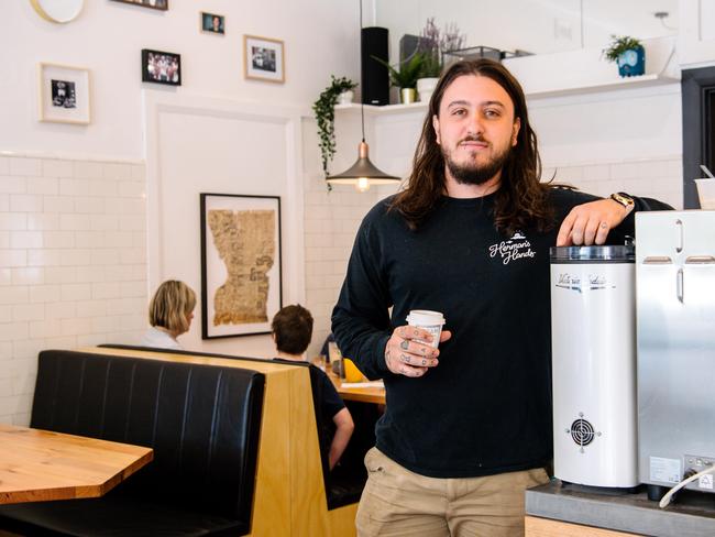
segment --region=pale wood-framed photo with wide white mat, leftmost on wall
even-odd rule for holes
[[[89,124],[89,69],[38,65],[40,121]]]

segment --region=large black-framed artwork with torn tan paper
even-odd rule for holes
[[[283,305],[280,198],[201,194],[201,337],[271,333]]]

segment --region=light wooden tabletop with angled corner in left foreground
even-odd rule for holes
[[[153,457],[151,448],[0,424],[0,504],[101,496]]]

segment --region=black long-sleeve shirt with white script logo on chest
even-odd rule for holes
[[[558,222],[594,199],[550,191]],[[343,355],[369,377],[384,379],[377,448],[435,478],[544,465],[552,457],[549,248],[559,226],[506,237],[494,226],[490,195],[444,197],[413,231],[398,211],[387,211],[389,202],[363,220],[332,314]],[[636,210],[648,206],[636,199]],[[609,243],[634,234],[634,212],[610,231]],[[441,311],[452,331],[440,344],[439,365],[418,379],[391,373],[384,358],[393,329],[407,324],[411,309]]]

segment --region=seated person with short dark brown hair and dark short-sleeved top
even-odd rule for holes
[[[299,304],[282,308],[271,324],[273,340],[276,344],[277,359],[293,362],[304,361],[304,353],[312,337],[312,316]],[[316,401],[316,416],[319,424],[333,424],[336,431],[332,438],[324,430],[319,430],[320,449],[328,451],[328,465],[332,470],[340,460],[355,425],[350,410],[338,395],[336,387],[324,372],[311,366],[311,381],[318,380],[319,386],[314,386],[314,394],[321,394]],[[320,413],[320,414],[318,414]],[[329,446],[329,448],[328,448]]]

